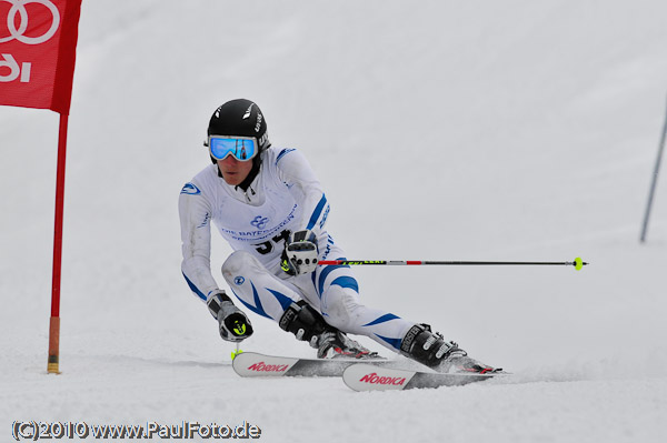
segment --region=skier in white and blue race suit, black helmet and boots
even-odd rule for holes
[[[249,311],[317,349],[317,356],[377,356],[347,333],[366,335],[440,372],[488,372],[454,342],[387,311],[359,301],[359,286],[327,232],[329,202],[306,158],[271,147],[267,121],[252,101],[219,107],[205,145],[213,164],[187,183],[179,198],[181,270],[192,292],[218,320],[223,340],[252,334],[248,316],[220,289],[210,269],[215,223],[235,251],[222,264],[231,292]]]

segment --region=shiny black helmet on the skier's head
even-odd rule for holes
[[[255,137],[259,152],[271,145],[267,120],[259,107],[246,99],[231,100],[218,108],[211,115],[207,135]]]

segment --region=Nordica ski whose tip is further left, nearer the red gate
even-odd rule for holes
[[[371,368],[389,363],[385,359],[299,359],[242,352],[232,366],[240,376],[341,376],[346,368],[360,361]]]

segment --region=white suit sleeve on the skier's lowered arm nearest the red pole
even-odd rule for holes
[[[203,302],[218,283],[211,273],[211,209],[201,191],[187,183],[178,200],[183,261],[181,271],[190,290]]]

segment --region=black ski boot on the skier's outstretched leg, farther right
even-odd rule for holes
[[[414,325],[400,344],[401,354],[442,373],[487,374],[500,371],[468,356],[455,342],[447,342],[428,324]]]

